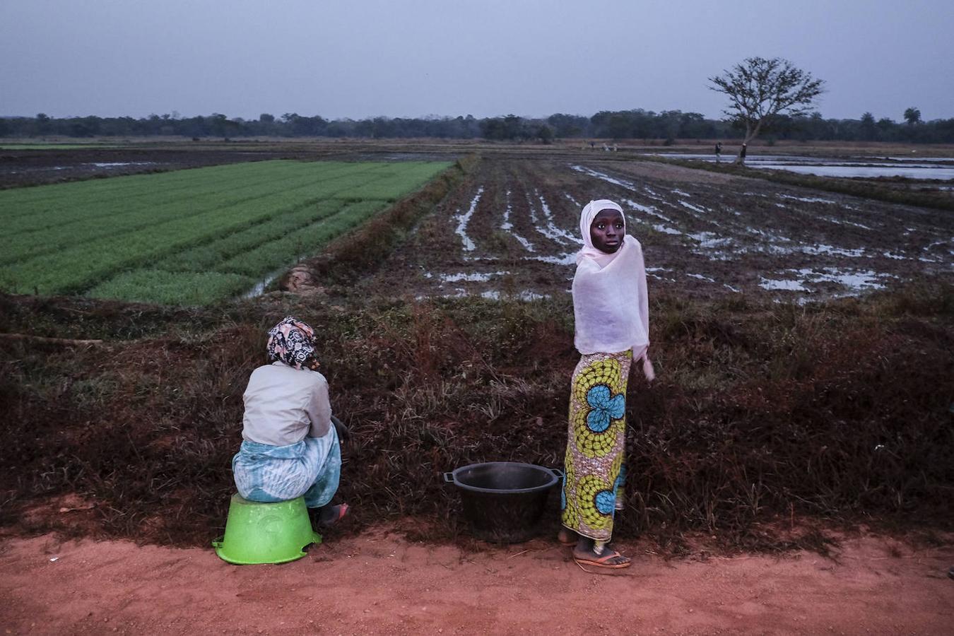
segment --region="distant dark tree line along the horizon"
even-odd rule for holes
[[[876,120],[871,113],[859,119],[825,119],[820,113],[780,115],[762,131],[769,143],[798,141],[894,141],[954,143],[954,118],[923,121],[917,108],[903,113],[903,121]],[[228,117],[221,113],[181,117],[151,114],[148,117],[0,117],[0,137],[94,137],[178,135],[203,137],[439,137],[485,138],[550,143],[556,138],[600,139],[741,139],[744,129],[728,121],[707,119],[699,113],[663,111],[601,111],[591,117],[557,113],[546,118],[508,114],[502,117],[372,117],[325,119],[284,113],[262,113],[258,119]]]

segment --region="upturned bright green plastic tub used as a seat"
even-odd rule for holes
[[[225,535],[212,542],[216,554],[230,564],[285,564],[301,559],[304,548],[321,544],[311,529],[304,498],[259,503],[232,495]]]

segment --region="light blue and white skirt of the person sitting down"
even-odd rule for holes
[[[250,502],[287,502],[304,495],[309,508],[331,501],[342,472],[342,450],[332,426],[320,438],[287,446],[242,441],[232,458],[239,495]]]

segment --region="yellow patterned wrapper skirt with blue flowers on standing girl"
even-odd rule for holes
[[[563,493],[563,524],[597,541],[612,538],[622,503],[626,441],[626,383],[633,351],[584,355],[570,382],[570,436]]]

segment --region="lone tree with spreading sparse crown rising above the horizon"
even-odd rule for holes
[[[736,163],[744,163],[744,148],[769,126],[778,114],[798,116],[812,109],[815,98],[824,92],[824,80],[797,69],[780,57],[747,57],[731,71],[710,77],[709,88],[729,95],[731,104],[723,111],[729,119],[745,126],[743,151]]]

